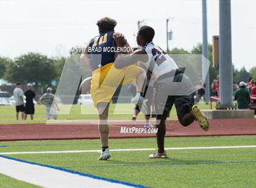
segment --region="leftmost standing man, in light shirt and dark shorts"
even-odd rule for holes
[[[21,119],[24,119],[24,93],[21,89],[22,84],[20,82],[16,83],[16,87],[13,90],[13,97],[15,99],[16,106],[16,119],[19,120],[19,112],[21,112]]]

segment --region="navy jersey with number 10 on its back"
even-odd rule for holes
[[[116,48],[113,33],[101,33],[89,42],[88,54],[90,54],[91,69],[96,70],[115,61],[115,52],[105,52],[106,48]],[[97,55],[101,55],[101,58]]]

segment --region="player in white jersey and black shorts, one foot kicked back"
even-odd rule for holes
[[[155,77],[158,151],[149,155],[149,158],[166,158],[164,149],[165,121],[173,104],[175,104],[182,126],[189,126],[196,119],[199,126],[206,131],[209,128],[209,123],[201,110],[197,106],[193,106],[193,85],[190,79],[179,70],[176,62],[166,52],[152,42],[154,35],[152,27],[146,25],[141,27],[137,34],[137,43],[140,47],[129,55],[119,55],[115,60],[115,67],[122,69],[142,61]]]

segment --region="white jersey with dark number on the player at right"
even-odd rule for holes
[[[148,54],[149,61],[145,66],[152,72],[155,78],[172,70],[179,69],[176,62],[153,42],[141,46],[141,49],[145,50]]]

